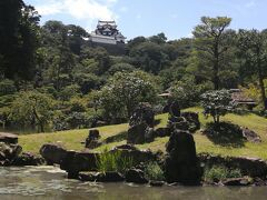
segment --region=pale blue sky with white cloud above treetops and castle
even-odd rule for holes
[[[117,21],[128,38],[165,32],[168,39],[190,37],[200,17],[227,16],[233,29],[267,28],[267,0],[24,0],[47,20],[79,24],[89,32],[97,20]]]

